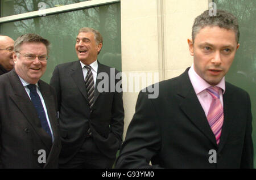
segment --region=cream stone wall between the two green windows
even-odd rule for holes
[[[122,71],[127,77],[129,72],[159,72],[159,81],[180,75],[192,64],[187,38],[193,20],[206,9],[208,0],[121,0]],[[124,137],[137,96],[123,93]]]

